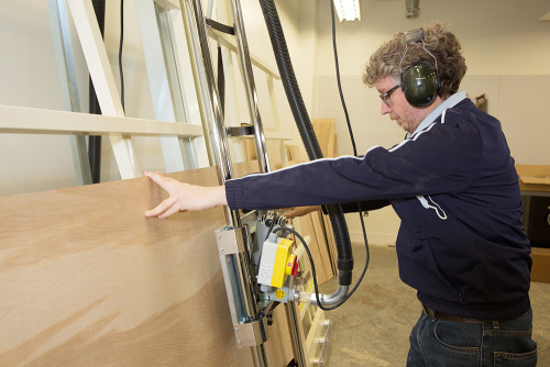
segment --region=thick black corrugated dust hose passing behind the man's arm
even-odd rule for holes
[[[260,0],[265,24],[277,62],[277,68],[283,80],[286,98],[290,104],[294,120],[300,133],[301,141],[310,160],[322,158],[322,152],[309,120],[304,99],[296,81],[293,64],[286,46],[285,35],[273,0]],[[344,214],[340,204],[327,205],[327,211],[332,223],[338,252],[338,282],[340,286],[350,286],[353,270],[353,255],[350,234],[345,224]]]

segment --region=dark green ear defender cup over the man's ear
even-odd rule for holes
[[[438,73],[427,64],[411,66],[402,73],[402,89],[407,101],[414,107],[430,104],[438,92]]]

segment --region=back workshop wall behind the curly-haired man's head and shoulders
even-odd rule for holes
[[[548,1],[420,1],[417,19],[405,16],[404,1],[361,1],[361,22],[337,23],[342,88],[359,153],[374,145],[391,147],[405,133],[380,113],[376,90],[361,79],[370,55],[393,34],[440,20],[457,33],[469,67],[461,89],[475,97],[485,93],[487,112],[497,116],[517,163],[550,164],[550,22],[539,18],[550,11]],[[319,7],[317,102],[319,119],[334,119],[340,154],[352,147],[338,93],[330,8]],[[352,238],[361,240],[356,215],[349,215]],[[372,242],[395,241],[399,220],[392,209],[370,213]]]

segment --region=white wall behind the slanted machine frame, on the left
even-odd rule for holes
[[[310,1],[312,2],[312,1]],[[204,1],[205,7],[208,1]],[[279,15],[293,54],[300,49],[300,4],[292,0],[277,2]],[[261,56],[274,69],[275,58],[267,31],[256,1],[242,1],[246,36],[252,53]],[[88,111],[88,71],[73,20],[69,15],[77,65],[80,104]],[[314,31],[316,29],[311,26]],[[120,1],[107,1],[105,43],[111,68],[120,90],[118,70],[120,35]],[[46,1],[20,0],[0,5],[0,104],[63,110],[63,98],[54,53]],[[216,54],[212,55],[216,63]],[[315,54],[309,55],[312,64]],[[143,47],[133,1],[124,1],[123,71],[125,113],[132,118],[154,119],[153,103],[146,76]],[[299,64],[299,63],[298,63]],[[238,69],[238,63],[234,63]],[[216,68],[215,68],[216,69]],[[227,71],[228,73],[228,71]],[[267,97],[266,78],[255,73],[264,127],[274,130],[272,107]],[[308,76],[312,78],[312,75]],[[238,75],[238,78],[240,76]],[[238,79],[239,81],[239,79]],[[238,89],[237,122],[248,122],[244,92]],[[312,100],[309,88],[308,99]],[[276,84],[277,112],[284,132],[296,134],[292,112],[280,81]],[[164,170],[161,145],[156,137],[134,137],[133,143],[142,169]],[[120,179],[110,143],[103,138],[101,180]],[[0,134],[0,196],[43,191],[76,185],[69,138],[57,135]]]

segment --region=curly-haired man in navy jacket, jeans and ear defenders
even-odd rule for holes
[[[398,33],[373,54],[363,80],[407,132],[404,142],[216,188],[146,173],[169,192],[146,215],[388,200],[402,220],[399,275],[422,305],[407,365],[535,366],[518,176],[499,122],[458,91],[465,70],[457,37],[440,23]]]

